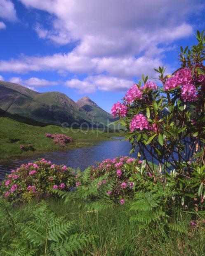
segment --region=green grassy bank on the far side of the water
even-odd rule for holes
[[[59,126],[32,126],[20,123],[9,117],[0,117],[0,162],[21,156],[30,156],[41,152],[65,150],[69,148],[92,146],[100,140],[109,140],[110,136],[122,136],[123,133],[102,133],[97,130],[63,129]],[[65,148],[56,145],[45,133],[63,133],[73,138]],[[31,143],[33,147],[28,147]],[[25,146],[25,150],[20,149]]]

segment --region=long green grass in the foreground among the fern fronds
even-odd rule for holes
[[[36,205],[36,202],[33,202]],[[130,222],[132,213],[129,205],[113,205],[99,211],[86,210],[86,205],[79,208],[77,203],[65,204],[61,199],[47,200],[48,208],[57,214],[64,216],[66,221],[74,221],[73,232],[80,234],[84,232],[94,236],[94,240],[87,244],[84,251],[78,251],[76,255],[93,256],[181,256],[204,255],[205,232],[203,226],[192,228],[190,220],[191,213],[184,213],[176,209],[174,216],[176,223],[182,223],[186,232],[179,233],[167,231],[166,235],[154,235],[150,231],[141,230],[137,223]],[[18,223],[29,220],[29,212],[25,206],[18,206],[12,210],[13,216],[18,212]],[[21,214],[22,213],[22,214]],[[3,223],[0,220],[0,223]],[[4,225],[4,223],[2,224]],[[1,225],[1,226],[2,226]],[[0,231],[0,237],[2,237]],[[12,225],[7,226],[7,236],[3,237],[0,244],[4,245],[14,237]]]

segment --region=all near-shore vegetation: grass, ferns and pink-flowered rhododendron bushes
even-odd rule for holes
[[[204,255],[203,34],[181,48],[179,70],[156,70],[163,88],[142,76],[144,86],[113,105],[138,159],[105,159],[84,172],[42,159],[7,175],[2,255]]]

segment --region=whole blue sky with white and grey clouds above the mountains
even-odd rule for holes
[[[203,0],[0,0],[0,80],[110,112],[142,74],[179,68],[204,28]]]

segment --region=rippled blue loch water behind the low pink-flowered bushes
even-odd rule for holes
[[[130,142],[126,140],[121,141],[121,139],[120,137],[115,137],[113,140],[101,141],[98,145],[92,147],[41,153],[35,156],[29,156],[28,158],[20,158],[5,165],[0,164],[0,180],[4,178],[5,173],[9,173],[12,169],[21,166],[21,164],[33,162],[39,158],[45,158],[53,164],[65,164],[72,168],[80,167],[81,170],[84,170],[88,166],[94,165],[96,161],[115,158],[117,156],[128,156],[132,146]],[[134,152],[131,156],[137,157],[137,152]],[[147,155],[147,157],[151,161],[151,156]]]

